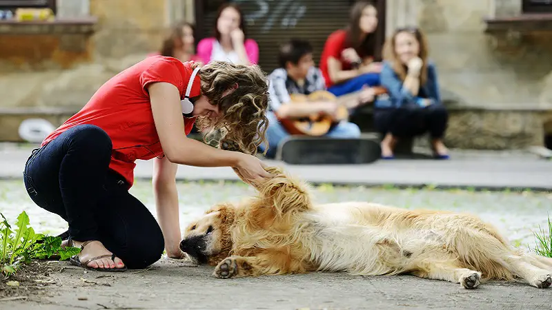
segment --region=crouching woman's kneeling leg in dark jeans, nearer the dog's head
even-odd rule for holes
[[[108,195],[98,202],[99,241],[129,269],[144,269],[161,258],[165,241],[154,216],[128,193],[121,176],[112,172],[106,181]]]

